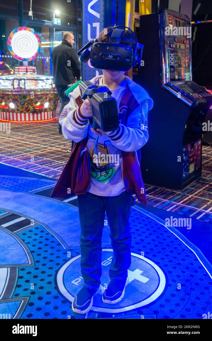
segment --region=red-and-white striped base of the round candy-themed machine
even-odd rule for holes
[[[41,113],[6,113],[0,111],[1,121],[10,122],[37,122],[37,121],[49,121],[56,117],[56,110],[45,111]]]

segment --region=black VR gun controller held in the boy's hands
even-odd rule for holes
[[[91,99],[93,117],[89,122],[94,129],[101,128],[103,131],[112,131],[118,128],[117,102],[111,96],[112,92],[103,85],[94,85],[85,80],[79,83],[82,100]]]

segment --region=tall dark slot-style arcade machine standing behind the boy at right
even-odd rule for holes
[[[141,148],[147,184],[182,190],[201,176],[202,122],[212,95],[192,81],[191,23],[161,10],[140,17],[144,66],[137,83],[154,101],[148,143]]]

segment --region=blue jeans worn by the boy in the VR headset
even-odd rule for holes
[[[78,194],[81,226],[81,273],[84,286],[97,289],[102,275],[101,238],[105,211],[110,226],[113,257],[109,269],[111,279],[126,280],[131,265],[131,231],[129,224],[132,194],[124,191],[117,196]]]

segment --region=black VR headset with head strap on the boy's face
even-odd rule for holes
[[[119,25],[113,28],[109,43],[101,43],[98,39],[92,39],[78,51],[81,62],[87,63],[90,59],[94,68],[102,70],[128,71],[137,64],[140,68],[144,45],[138,44],[135,33],[129,27]],[[125,28],[130,30],[135,37],[136,43],[133,48],[120,44]],[[88,49],[90,46],[91,51]]]

